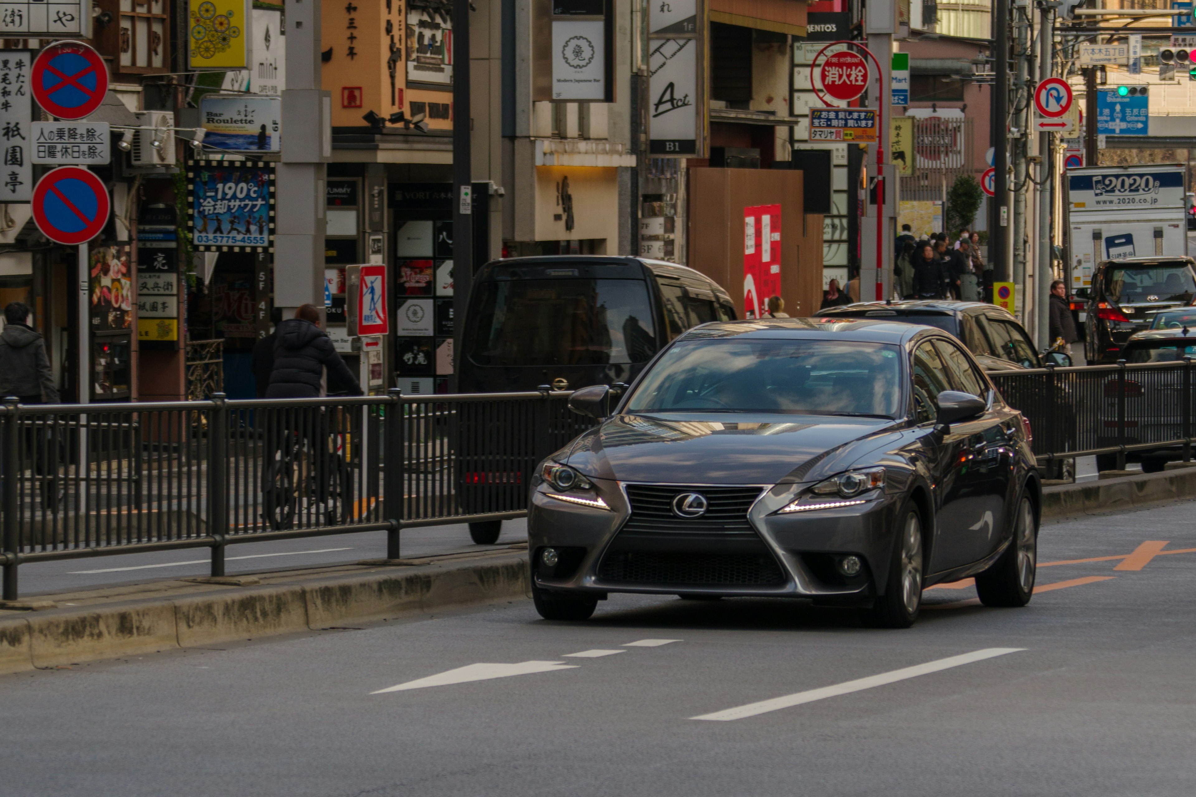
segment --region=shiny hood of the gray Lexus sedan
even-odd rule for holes
[[[813,415],[618,415],[562,454],[599,479],[797,483],[849,467],[889,442],[885,433],[896,427],[889,418]]]

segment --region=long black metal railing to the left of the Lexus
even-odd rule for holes
[[[22,563],[519,517],[592,419],[568,392],[0,405],[4,600]],[[396,455],[396,452],[398,453]]]

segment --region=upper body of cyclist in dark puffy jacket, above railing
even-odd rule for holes
[[[328,333],[316,326],[319,311],[304,305],[295,317],[280,321],[275,327],[274,369],[266,398],[317,398],[324,368],[329,381],[348,387],[353,396],[361,396],[361,386],[341,355],[336,354]]]

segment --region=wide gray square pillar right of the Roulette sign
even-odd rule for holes
[[[321,90],[321,0],[286,5],[287,88],[275,179],[274,304],[324,306],[325,166],[332,157],[331,97]]]

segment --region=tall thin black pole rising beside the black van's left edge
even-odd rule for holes
[[[496,6],[498,4],[495,4]],[[474,151],[470,128],[474,114],[469,86],[469,6],[470,0],[452,4],[452,314],[453,314],[453,385],[457,386],[459,363],[465,356],[462,336],[465,312],[474,290]]]

